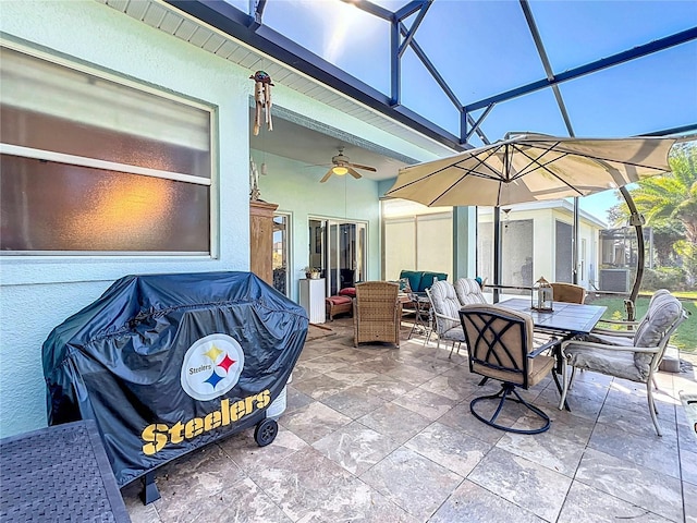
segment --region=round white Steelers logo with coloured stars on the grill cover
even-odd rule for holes
[[[235,339],[222,333],[207,336],[184,354],[182,388],[195,400],[215,400],[237,384],[243,367],[244,352]]]

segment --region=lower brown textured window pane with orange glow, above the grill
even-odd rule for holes
[[[210,190],[2,155],[2,251],[209,252]]]

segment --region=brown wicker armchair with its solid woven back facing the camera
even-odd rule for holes
[[[402,304],[399,283],[365,281],[356,283],[353,305],[353,344],[376,341],[400,346]]]

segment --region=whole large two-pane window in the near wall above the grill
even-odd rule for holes
[[[2,254],[211,252],[210,108],[0,52]]]

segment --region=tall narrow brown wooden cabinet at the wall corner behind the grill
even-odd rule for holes
[[[273,284],[273,211],[278,204],[249,202],[249,270]]]

